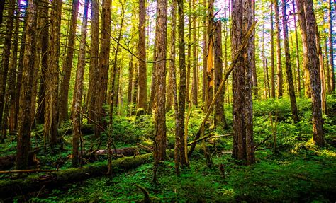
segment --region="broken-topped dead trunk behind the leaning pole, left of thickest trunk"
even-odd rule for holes
[[[215,50],[215,92],[218,91],[220,83],[223,80],[223,54],[222,54],[222,23],[214,23],[214,50]],[[220,92],[215,102],[215,127],[227,127],[224,115],[224,89]]]

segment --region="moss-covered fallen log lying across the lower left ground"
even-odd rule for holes
[[[136,168],[147,163],[152,154],[145,154],[131,158],[120,158],[112,161],[113,173],[121,170]],[[0,198],[15,197],[28,192],[38,191],[42,187],[57,187],[71,182],[86,180],[105,175],[107,172],[106,163],[94,163],[82,168],[70,168],[43,175],[29,175],[18,180],[0,180]]]

